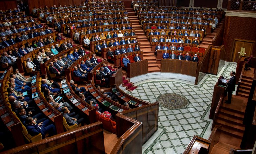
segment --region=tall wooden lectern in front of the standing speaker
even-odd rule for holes
[[[224,96],[225,90],[227,87],[227,84],[222,82],[221,79],[222,79],[222,76],[219,77],[218,82],[214,86],[213,96],[212,96],[212,105],[211,105],[211,110],[209,115],[210,119],[214,118],[214,112],[216,110],[216,107],[218,106],[220,97]]]

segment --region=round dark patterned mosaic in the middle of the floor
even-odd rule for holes
[[[169,109],[185,108],[189,104],[188,100],[184,96],[175,93],[162,94],[157,98],[157,100],[162,107]]]

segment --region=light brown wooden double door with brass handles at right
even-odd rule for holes
[[[255,41],[234,40],[232,61],[237,62],[241,56],[251,56]]]

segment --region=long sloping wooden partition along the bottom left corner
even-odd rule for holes
[[[105,153],[102,123],[85,125],[3,153]]]

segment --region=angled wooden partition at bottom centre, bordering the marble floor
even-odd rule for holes
[[[158,129],[158,110],[159,103],[155,102],[117,113],[117,137],[120,138],[111,154],[142,153],[142,144]]]

